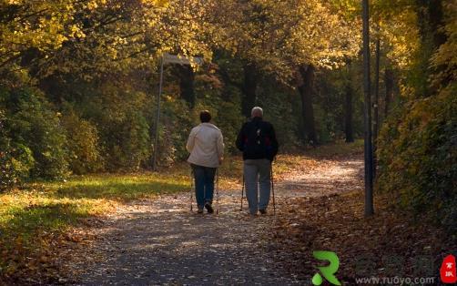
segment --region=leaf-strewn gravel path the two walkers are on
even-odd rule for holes
[[[290,197],[360,188],[361,160],[322,161],[276,185],[278,216]],[[309,284],[274,260],[269,227],[277,217],[239,211],[239,190],[219,191],[219,214],[189,211],[189,194],[137,201],[94,231],[97,237],[68,262],[78,285]],[[288,273],[288,274],[286,274]]]

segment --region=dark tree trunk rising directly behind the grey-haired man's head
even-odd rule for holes
[[[244,70],[244,85],[243,85],[243,98],[241,100],[241,112],[245,117],[250,117],[250,111],[256,104],[257,99],[257,86],[258,86],[258,73],[254,64],[247,64],[243,66]]]

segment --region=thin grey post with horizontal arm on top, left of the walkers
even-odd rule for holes
[[[168,53],[162,55],[160,58],[160,80],[158,83],[158,96],[157,96],[157,113],[156,113],[156,128],[154,138],[154,153],[152,154],[152,169],[157,170],[157,150],[158,150],[158,122],[160,119],[160,97],[162,97],[162,87],[164,78],[164,65],[166,64],[178,64],[178,65],[203,65],[203,58],[192,56],[176,56]]]

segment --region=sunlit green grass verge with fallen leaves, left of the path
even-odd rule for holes
[[[113,212],[134,199],[188,189],[188,177],[173,174],[99,174],[31,183],[0,194],[0,284],[22,273],[52,271],[57,244],[86,219]],[[8,281],[6,281],[8,279]]]

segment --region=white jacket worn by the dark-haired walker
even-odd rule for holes
[[[214,124],[201,123],[190,131],[186,148],[190,153],[189,163],[218,168],[219,158],[224,155],[222,132]]]

